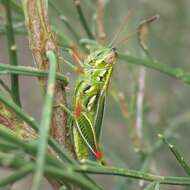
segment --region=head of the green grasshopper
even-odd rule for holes
[[[95,68],[104,68],[112,66],[117,58],[117,52],[115,48],[101,48],[92,52],[87,60],[86,64]]]

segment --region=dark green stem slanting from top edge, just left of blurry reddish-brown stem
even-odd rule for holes
[[[81,24],[82,24],[82,26],[83,26],[83,28],[84,28],[86,34],[88,35],[88,37],[89,37],[90,39],[94,39],[94,36],[93,36],[93,34],[92,34],[92,32],[91,32],[91,30],[90,30],[88,24],[87,24],[87,21],[86,21],[86,19],[85,19],[85,16],[84,16],[84,14],[83,14],[83,11],[82,11],[82,8],[81,8],[81,4],[80,4],[80,0],[73,0],[73,1],[74,1],[74,4],[75,4],[75,7],[76,7],[76,9],[77,9],[77,13],[78,13],[80,22],[81,22]]]

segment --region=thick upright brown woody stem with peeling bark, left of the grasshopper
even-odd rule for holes
[[[24,0],[26,25],[29,33],[29,43],[37,68],[48,70],[48,62],[45,56],[46,51],[54,51],[59,57],[58,46],[55,35],[51,31],[48,19],[46,0]],[[59,64],[59,63],[58,63]],[[61,72],[60,66],[57,70]],[[46,90],[47,79],[39,78],[43,92]],[[60,81],[56,82],[54,105],[66,105],[65,87]],[[69,131],[66,127],[67,115],[59,107],[55,106],[52,116],[52,136],[69,151],[72,150]]]

